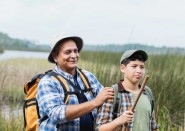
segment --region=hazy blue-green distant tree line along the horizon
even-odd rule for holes
[[[14,39],[7,34],[0,32],[0,52],[5,50],[24,50],[24,51],[50,51],[49,45],[40,45],[34,41]],[[185,54],[185,48],[170,48],[170,47],[155,47],[147,46],[140,43],[128,43],[128,44],[108,44],[108,45],[84,45],[85,51],[99,51],[99,52],[124,52],[129,49],[142,49],[150,54]]]

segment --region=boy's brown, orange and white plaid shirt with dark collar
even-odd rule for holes
[[[121,84],[122,81],[118,83],[118,91],[121,92],[121,106],[118,110],[117,117],[119,117],[124,111],[129,110],[134,103],[132,93],[125,90],[123,85]],[[96,119],[96,130],[98,127],[109,123],[113,120],[113,101],[114,99],[108,99],[98,110],[98,116]],[[132,131],[133,123],[128,125],[129,131]],[[121,131],[122,126],[120,126],[117,131]]]

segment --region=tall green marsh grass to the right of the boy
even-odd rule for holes
[[[151,56],[150,59],[148,74],[152,80],[149,86],[156,98],[157,114],[171,127],[182,126],[185,112],[185,57],[166,54]]]

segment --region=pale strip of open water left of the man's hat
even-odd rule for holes
[[[5,50],[0,54],[0,60],[9,58],[43,58],[47,59],[49,52],[32,52],[32,51],[13,51]]]

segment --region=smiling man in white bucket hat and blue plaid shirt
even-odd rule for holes
[[[85,89],[85,84],[77,72],[79,52],[83,40],[65,33],[58,34],[51,45],[48,61],[56,64],[54,72],[67,79],[70,91],[74,84],[78,90]],[[96,77],[89,71],[82,70],[87,77],[94,96],[90,92],[81,93],[82,97],[71,95],[67,104],[64,103],[65,92],[62,85],[51,76],[46,75],[39,82],[37,101],[39,103],[40,125],[44,131],[93,131],[97,107],[106,99],[113,98],[111,88],[103,88]],[[46,120],[41,121],[45,116]]]

